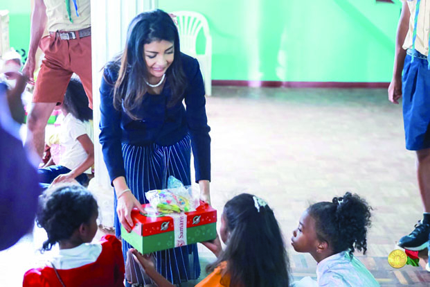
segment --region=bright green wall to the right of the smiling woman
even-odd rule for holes
[[[391,80],[399,1],[159,0],[159,7],[208,19],[215,80]]]

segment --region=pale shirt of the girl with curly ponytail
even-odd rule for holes
[[[319,287],[379,287],[375,277],[356,256],[343,251],[323,259],[316,266]]]

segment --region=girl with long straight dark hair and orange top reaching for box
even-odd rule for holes
[[[196,287],[289,286],[289,261],[274,211],[255,195],[242,193],[229,200],[221,216],[220,239],[204,243],[217,256],[206,271],[211,272]],[[132,250],[146,274],[157,286],[173,287],[162,277],[150,256]]]

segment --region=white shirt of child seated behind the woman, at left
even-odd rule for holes
[[[70,170],[78,167],[88,157],[87,152],[78,141],[78,137],[82,134],[88,134],[88,137],[93,141],[93,126],[89,121],[80,121],[72,114],[67,114],[60,127],[60,145],[62,155],[60,166],[66,166]],[[88,168],[84,173],[91,173],[91,168]]]

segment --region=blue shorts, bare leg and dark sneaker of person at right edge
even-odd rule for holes
[[[409,250],[425,249],[430,234],[430,70],[423,58],[411,62],[411,56],[406,55],[402,79],[406,149],[417,154],[418,186],[424,205],[423,219],[398,243]]]

